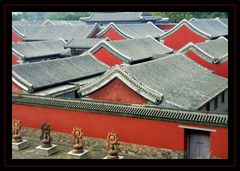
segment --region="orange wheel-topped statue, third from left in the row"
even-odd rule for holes
[[[83,131],[81,128],[73,128],[72,131],[73,134],[73,139],[72,139],[72,144],[73,144],[73,153],[83,153],[83,146],[84,142],[82,140],[83,136]]]

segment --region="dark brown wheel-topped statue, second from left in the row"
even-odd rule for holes
[[[42,130],[42,134],[40,135],[40,139],[42,140],[42,148],[50,148],[52,147],[51,141],[52,141],[52,137],[50,135],[50,130],[51,130],[51,126],[44,122],[41,124],[41,130]]]

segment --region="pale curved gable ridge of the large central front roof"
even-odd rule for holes
[[[156,92],[155,90],[147,87],[145,84],[136,80],[134,77],[129,75],[124,70],[124,68],[122,68],[119,65],[113,66],[110,70],[105,72],[100,78],[96,79],[95,81],[87,85],[82,86],[79,91],[81,95],[85,96],[102,88],[115,78],[120,79],[133,91],[143,96],[144,98],[152,101],[153,103],[159,104],[163,99],[162,94]]]

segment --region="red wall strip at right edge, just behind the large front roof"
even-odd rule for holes
[[[200,65],[213,71],[214,74],[228,78],[228,61],[222,64],[212,64],[199,57],[193,51],[188,51],[187,53],[185,53],[185,55],[194,60],[195,62],[199,63]]]

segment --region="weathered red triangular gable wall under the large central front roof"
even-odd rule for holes
[[[108,85],[89,95],[90,98],[130,104],[146,104],[148,100],[135,93],[118,78],[112,80]]]

